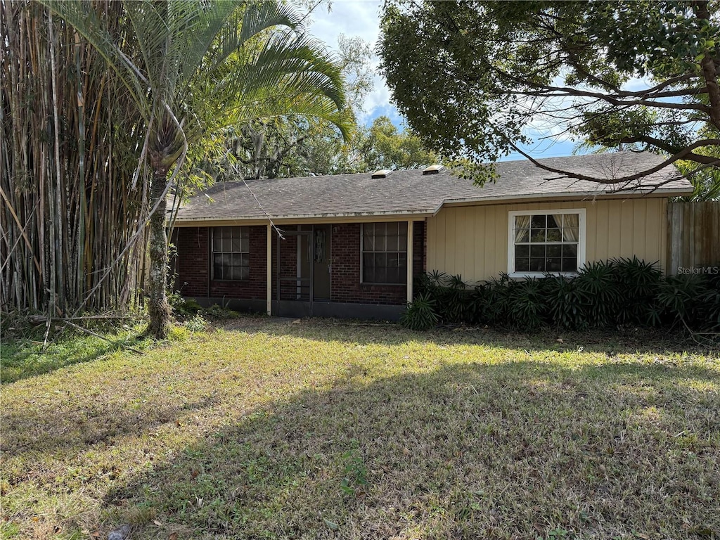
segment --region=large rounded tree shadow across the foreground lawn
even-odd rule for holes
[[[518,361],[369,380],[357,365],[116,485],[104,522],[134,519],[133,539],[718,535],[718,384],[701,368]]]

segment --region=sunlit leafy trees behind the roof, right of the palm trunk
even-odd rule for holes
[[[373,89],[372,50],[359,37],[340,35],[337,55],[345,84],[343,112],[354,119]],[[438,159],[416,135],[401,132],[384,116],[344,139],[330,122],[293,114],[265,117],[229,125],[217,143],[217,157],[199,160],[197,167],[202,176],[219,181],[417,168]]]

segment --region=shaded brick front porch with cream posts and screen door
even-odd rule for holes
[[[425,230],[424,220],[178,228],[176,289],[268,315],[395,320],[425,271]]]

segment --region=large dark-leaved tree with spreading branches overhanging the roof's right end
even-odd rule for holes
[[[379,54],[410,127],[429,148],[471,165],[480,181],[492,168],[478,163],[513,151],[532,160],[521,143],[544,122],[595,146],[631,145],[662,153],[663,165],[682,160],[716,171],[719,6],[390,1]]]

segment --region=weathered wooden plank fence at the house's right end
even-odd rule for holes
[[[716,273],[718,267],[720,201],[668,203],[668,273]]]

